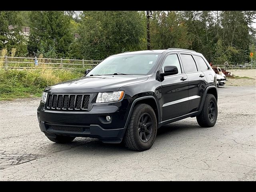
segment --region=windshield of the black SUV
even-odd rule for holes
[[[156,66],[159,54],[133,54],[110,56],[95,66],[86,76],[148,75]]]

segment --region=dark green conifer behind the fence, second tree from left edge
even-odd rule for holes
[[[64,11],[34,11],[30,13],[30,55],[65,57],[74,40],[70,30],[70,17]]]

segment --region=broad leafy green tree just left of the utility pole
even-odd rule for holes
[[[85,11],[79,34],[84,58],[102,60],[109,55],[145,49],[145,13],[137,11]]]

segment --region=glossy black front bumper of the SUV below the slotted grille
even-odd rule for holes
[[[90,137],[98,138],[105,143],[120,143],[126,130],[129,111],[130,100],[123,99],[120,102],[94,104],[90,111],[80,112],[47,110],[40,102],[37,114],[40,130],[48,137],[56,137],[56,135]],[[112,120],[104,122],[102,116],[111,116]],[[60,129],[53,130],[51,126]],[[81,127],[82,129],[79,129]],[[76,128],[79,131],[76,131]]]

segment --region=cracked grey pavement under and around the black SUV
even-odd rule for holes
[[[40,131],[40,98],[0,102],[0,180],[256,180],[256,87],[219,88],[218,120],[187,118],[158,129],[150,150]]]

